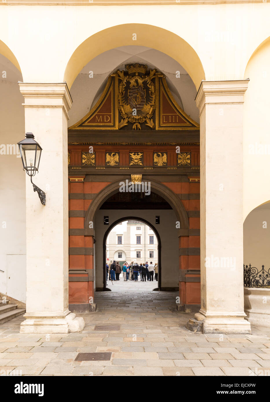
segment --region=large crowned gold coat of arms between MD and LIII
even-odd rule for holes
[[[150,70],[145,75],[146,64],[127,64],[128,75],[124,71],[117,71],[121,78],[119,84],[119,110],[122,120],[118,124],[122,128],[133,123],[134,130],[140,130],[140,123],[151,129],[155,127],[152,116],[155,110],[155,84],[152,82],[156,70]]]

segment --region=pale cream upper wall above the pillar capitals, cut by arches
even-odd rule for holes
[[[175,33],[195,49],[206,80],[232,80],[243,78],[249,57],[269,36],[269,15],[269,2],[171,6],[3,5],[0,39],[17,58],[25,82],[62,82],[72,53],[91,35],[123,23],[151,24]],[[139,40],[137,44],[142,45]],[[111,43],[111,48],[120,45]],[[132,37],[130,45],[134,45]]]

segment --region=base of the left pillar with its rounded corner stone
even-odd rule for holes
[[[68,332],[80,332],[85,327],[82,317],[68,312],[66,316],[33,316],[25,314],[25,321],[21,323],[20,334],[67,334]]]

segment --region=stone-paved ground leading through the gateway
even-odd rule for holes
[[[251,335],[194,334],[193,314],[175,308],[177,292],[157,282],[109,283],[96,293],[97,311],[77,314],[82,332],[20,334],[23,316],[0,325],[0,375],[270,375],[270,328]],[[120,324],[119,331],[95,331]],[[112,352],[110,361],[74,361],[78,352]]]

